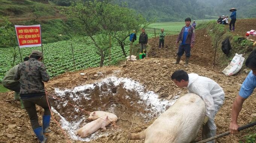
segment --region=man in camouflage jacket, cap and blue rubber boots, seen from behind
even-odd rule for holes
[[[50,132],[50,103],[48,105],[45,95],[44,82],[49,81],[42,60],[42,52],[33,50],[28,61],[20,63],[18,71],[14,75],[14,80],[20,80],[20,98],[23,100],[24,107],[29,114],[30,123],[40,143],[45,143],[47,138],[44,133]],[[42,118],[43,127],[39,125],[35,104],[44,108]]]

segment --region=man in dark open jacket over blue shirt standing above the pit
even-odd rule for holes
[[[185,67],[188,66],[188,61],[190,57],[190,50],[195,44],[195,28],[190,25],[191,19],[186,18],[185,19],[185,27],[182,27],[180,34],[178,35],[178,38],[176,40],[176,45],[178,45],[179,41],[182,41],[179,46],[179,50],[177,53],[177,59],[175,64],[178,64],[180,62],[181,56],[186,53],[186,63]]]

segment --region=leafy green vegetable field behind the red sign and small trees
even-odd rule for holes
[[[153,34],[148,34],[148,38],[153,37]],[[127,40],[129,40],[127,38]],[[71,43],[74,49],[74,59],[76,69],[73,66],[73,57],[71,50]],[[137,44],[138,40],[134,44]],[[29,56],[32,50],[41,50],[41,47],[27,47],[21,48],[21,56]],[[60,41],[55,43],[43,44],[44,63],[50,77],[55,77],[66,71],[75,71],[85,69],[88,67],[99,66],[100,56],[96,53],[97,49],[93,44],[82,42],[82,39],[73,39]],[[126,54],[129,54],[129,46],[125,47]],[[21,62],[18,48],[16,48],[17,56],[15,57],[14,65]],[[113,46],[111,48],[111,63],[123,59],[121,47]],[[105,58],[104,65],[109,64],[109,58]],[[12,48],[0,49],[0,81],[2,81],[5,73],[12,67]]]

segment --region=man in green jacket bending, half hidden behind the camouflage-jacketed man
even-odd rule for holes
[[[29,60],[29,57],[25,57],[24,61]],[[15,65],[8,72],[6,72],[5,77],[3,78],[2,84],[5,88],[15,91],[14,100],[18,100],[21,103],[21,109],[24,109],[23,101],[20,100],[20,81],[15,81],[14,75],[18,71],[18,65]]]

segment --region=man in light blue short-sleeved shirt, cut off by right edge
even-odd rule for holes
[[[250,53],[245,61],[245,65],[250,68],[251,71],[242,83],[238,96],[236,96],[235,102],[233,103],[231,121],[229,124],[231,134],[238,134],[239,125],[237,124],[237,117],[244,101],[253,93],[254,88],[256,88],[256,50]]]

